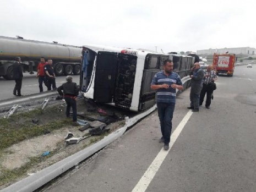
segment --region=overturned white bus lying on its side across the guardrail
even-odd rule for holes
[[[155,105],[156,91],[150,84],[165,59],[173,60],[174,71],[183,79],[194,64],[190,56],[106,46],[83,46],[82,54],[84,97],[134,112]]]

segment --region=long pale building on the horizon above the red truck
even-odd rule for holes
[[[197,54],[206,55],[214,53],[235,53],[235,54],[246,54],[248,56],[255,55],[256,49],[250,47],[237,47],[237,48],[209,48],[209,50],[198,50]]]

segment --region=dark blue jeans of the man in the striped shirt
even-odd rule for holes
[[[175,109],[175,103],[157,102],[156,105],[158,109],[162,138],[164,138],[165,144],[168,144],[170,142],[172,132],[172,117]]]

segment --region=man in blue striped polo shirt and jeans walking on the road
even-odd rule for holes
[[[171,59],[164,61],[164,70],[155,74],[151,89],[156,91],[156,105],[161,125],[162,138],[159,142],[164,142],[164,149],[169,149],[169,142],[172,131],[172,117],[176,102],[176,89],[183,90],[181,78],[173,70]]]

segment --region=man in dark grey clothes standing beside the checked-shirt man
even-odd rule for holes
[[[190,89],[190,107],[193,112],[199,112],[199,95],[203,87],[202,81],[204,78],[204,71],[200,68],[199,63],[194,63],[194,67],[191,69],[191,89]]]

